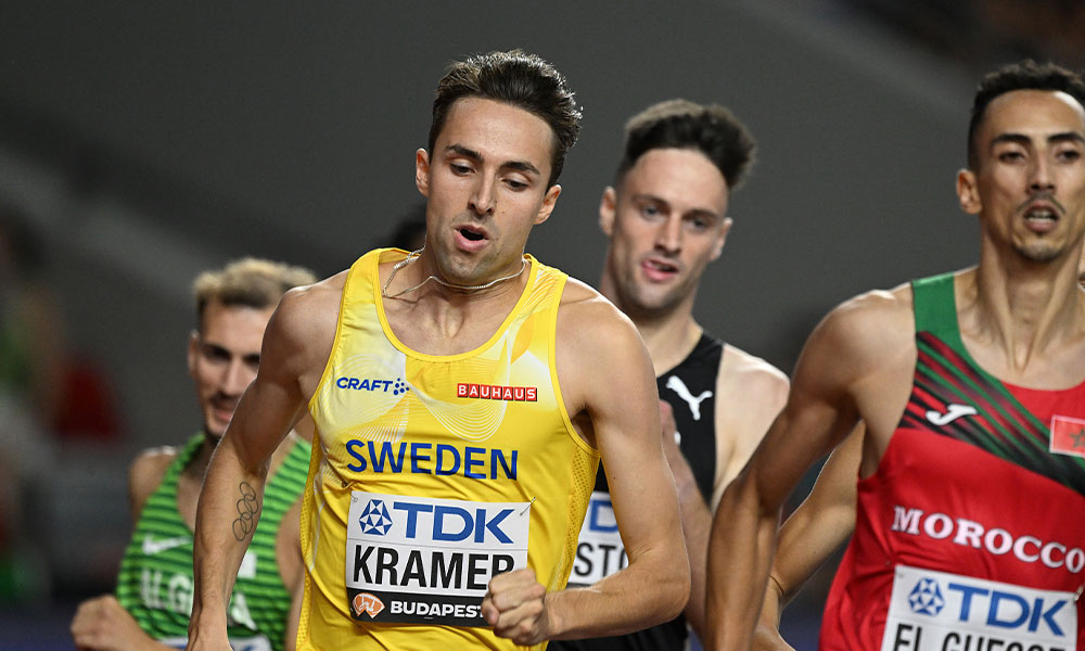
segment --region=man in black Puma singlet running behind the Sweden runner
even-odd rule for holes
[[[787,393],[782,373],[706,334],[692,316],[701,276],[719,257],[731,226],[730,191],[753,148],[729,111],[684,100],[650,106],[626,127],[614,186],[600,205],[611,243],[599,288],[640,331],[660,398],[674,416],[677,431],[665,432],[664,447],[678,484],[692,590],[685,616],[622,637],[554,641],[550,649],[684,649],[686,620],[694,630],[703,626],[710,507]],[[613,522],[600,468],[571,584],[589,585],[624,564]]]

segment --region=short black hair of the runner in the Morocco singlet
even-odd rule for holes
[[[1081,76],[1051,62],[1036,63],[1026,59],[1003,66],[988,73],[980,80],[972,100],[972,114],[968,122],[968,165],[975,168],[979,163],[975,152],[975,132],[983,122],[987,106],[995,98],[1014,90],[1062,91],[1085,106],[1085,82]]]

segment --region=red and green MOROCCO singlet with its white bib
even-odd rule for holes
[[[1039,391],[980,368],[953,275],[912,296],[911,397],[858,483],[820,648],[1085,649],[1085,383]]]

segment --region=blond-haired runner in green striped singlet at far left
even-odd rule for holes
[[[203,429],[180,447],[144,450],[131,464],[136,523],[116,595],[81,603],[72,622],[76,647],[183,648],[192,610],[192,529],[207,463],[260,359],[264,330],[282,294],[309,284],[306,269],[247,258],[194,283],[199,327],[189,341],[189,371]],[[231,599],[235,650],[294,648],[301,595],[298,497],[309,443],[296,433],[271,461],[264,511]],[[281,526],[280,526],[281,525]]]

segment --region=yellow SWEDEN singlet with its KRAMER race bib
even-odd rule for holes
[[[379,250],[352,266],[302,505],[298,649],[513,649],[481,614],[492,576],[565,586],[599,456],[554,370],[566,276],[527,256],[527,285],[485,344],[424,355],[388,327]],[[544,644],[545,646],[545,644]]]

